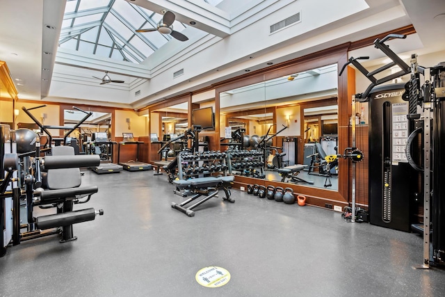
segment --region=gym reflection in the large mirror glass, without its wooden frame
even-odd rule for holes
[[[337,88],[334,64],[228,90],[220,93],[220,124],[230,127],[232,134],[245,129],[249,141],[244,138],[243,142],[253,144],[247,149],[263,154],[266,179],[337,191],[338,165],[332,163],[326,171],[321,157],[337,154]],[[255,147],[252,136],[260,141],[263,136],[268,143]],[[221,138],[221,150],[236,150],[229,143],[238,141],[226,138]],[[319,150],[307,154],[306,144]],[[283,168],[291,170],[289,175],[281,174]]]

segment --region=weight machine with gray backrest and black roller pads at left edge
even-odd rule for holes
[[[35,150],[17,154],[20,145],[15,143],[15,132],[0,125],[0,257],[10,243],[15,246],[41,236],[61,234],[60,242],[73,241],[73,224],[104,214],[102,209],[73,210],[74,204],[88,202],[98,191],[97,186],[81,186],[79,168],[97,166],[99,156],[74,155],[70,146],[52,147],[51,156],[40,156],[39,138],[29,131],[31,134],[19,141],[31,141]],[[21,200],[26,218],[20,217]],[[34,216],[34,207],[56,213]]]

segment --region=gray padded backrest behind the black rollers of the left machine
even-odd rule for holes
[[[67,156],[67,158],[70,158],[70,156],[74,156],[74,147],[53,147],[51,154],[53,156]],[[47,184],[50,190],[76,188],[81,185],[81,170],[80,168],[49,169]]]

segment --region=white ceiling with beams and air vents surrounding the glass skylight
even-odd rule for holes
[[[15,81],[19,90],[19,99],[44,98],[45,101],[82,103],[91,100],[92,104],[102,102],[103,105],[140,107],[150,101],[185,93],[208,86],[209,83],[238,76],[245,73],[246,67],[256,70],[267,67],[266,62],[280,63],[308,52],[332,47],[341,42],[359,40],[406,24],[413,24],[418,34],[410,35],[407,40],[393,42],[394,47],[391,44],[391,48],[394,51],[416,50],[418,54],[426,54],[445,49],[445,37],[442,34],[445,28],[445,15],[440,15],[445,14],[443,0],[367,0],[368,9],[351,12],[349,16],[341,17],[329,25],[319,26],[317,22],[321,22],[321,19],[310,19],[316,28],[314,31],[307,31],[305,34],[288,39],[280,39],[282,36],[280,34],[271,35],[270,38],[274,43],[264,48],[257,48],[258,45],[252,48],[249,47],[250,44],[241,45],[239,42],[243,40],[243,32],[251,37],[252,26],[263,22],[270,15],[286,15],[288,6],[295,6],[297,2],[305,3],[305,0],[252,0],[245,1],[244,6],[239,6],[239,1],[223,0],[218,7],[207,6],[207,3],[197,5],[197,2],[198,0],[132,1],[149,10],[157,11],[161,8],[172,10],[177,15],[177,20],[186,24],[193,20],[197,22],[196,28],[203,32],[197,35],[192,34],[187,45],[180,45],[177,40],[171,40],[161,48],[163,51],[156,52],[152,58],[148,58],[141,65],[135,65],[115,63],[106,59],[101,61],[89,56],[70,58],[72,56],[66,51],[63,53],[60,51],[57,54],[58,64],[55,64],[65,1],[0,0],[2,11],[0,60],[6,61],[13,79],[22,79],[22,81]],[[234,5],[236,10],[233,9]],[[391,14],[400,16],[391,19]],[[380,17],[380,21],[375,20],[377,17]],[[385,22],[385,19],[381,19],[382,17],[388,17],[388,21]],[[47,28],[47,24],[55,26],[56,29]],[[357,28],[357,24],[362,25],[362,28]],[[346,31],[351,30],[350,27],[353,25],[355,31],[351,32],[354,33],[347,33]],[[338,35],[341,31],[346,33],[342,38],[323,40],[325,34],[332,35],[334,31]],[[248,35],[244,40],[248,40]],[[214,45],[227,48],[227,57],[212,57],[211,52],[205,50]],[[237,47],[243,56],[237,56]],[[44,52],[49,54],[44,54]],[[250,54],[254,58],[249,60]],[[382,55],[369,47],[354,52],[353,56],[371,56],[378,59]],[[167,76],[163,74],[164,72],[174,72],[179,63],[185,63],[184,61],[187,60],[194,61],[193,59],[197,57],[200,57],[198,61],[202,63],[202,65],[196,65],[201,68],[197,71],[199,74],[193,74],[193,77],[182,77],[180,80],[172,79],[169,74],[170,79],[165,81],[164,77]],[[212,63],[218,58],[223,62],[218,66],[220,72],[214,72]],[[70,66],[72,64],[76,64],[76,67]],[[209,64],[208,68],[205,67],[206,64]],[[92,76],[103,77],[104,70],[109,71],[111,79],[124,80],[125,83],[119,84],[120,86],[117,86],[118,84],[111,86],[113,83],[99,86],[100,81],[92,79]],[[72,83],[72,87],[66,88],[66,83]],[[60,88],[54,91],[56,95],[51,95],[49,90],[51,89],[52,92],[55,86],[60,86]],[[88,90],[90,98],[71,95],[79,89]],[[143,98],[135,99],[133,92],[138,89],[143,92]],[[109,101],[104,99],[112,97],[110,94],[115,93],[122,94],[120,97],[123,103],[119,102],[119,99]],[[79,98],[82,100],[79,101]]]

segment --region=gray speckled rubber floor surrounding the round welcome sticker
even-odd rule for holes
[[[414,270],[422,239],[338,212],[233,190],[195,217],[165,175],[86,171],[99,193],[84,207],[104,216],[74,225],[79,239],[22,242],[0,258],[0,296],[444,296],[445,271]],[[222,193],[222,192],[220,192]],[[79,205],[76,209],[80,209]],[[202,287],[201,268],[231,279]]]

